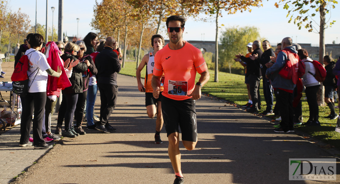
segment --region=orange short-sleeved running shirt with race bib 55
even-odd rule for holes
[[[195,87],[196,72],[208,69],[202,52],[189,44],[179,50],[171,50],[169,44],[155,54],[153,74],[161,76],[164,72],[163,96],[173,100],[186,100]]]

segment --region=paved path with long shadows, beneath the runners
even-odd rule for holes
[[[20,152],[23,155],[17,157],[23,159],[39,153],[36,158],[30,158],[29,165],[43,156],[13,183],[172,184],[175,177],[167,153],[165,128],[161,132],[163,144],[154,144],[155,118],[147,117],[145,95],[137,90],[136,78],[118,75],[118,84],[118,102],[109,121],[117,128],[115,133],[85,129],[86,135],[64,138],[45,155],[45,151],[33,147],[19,148],[19,136],[15,134],[16,143],[7,143],[11,148],[0,150],[1,155]],[[98,94],[97,114],[99,104]],[[186,184],[293,183],[288,180],[289,158],[334,158],[294,133],[274,133],[269,121],[215,98],[202,96],[196,110],[197,147],[188,151],[180,143]],[[55,117],[52,126],[56,124]],[[8,131],[11,132],[15,133]],[[1,143],[1,148],[4,147]],[[0,167],[1,174],[8,164]],[[22,166],[21,170],[25,167],[28,166]],[[338,165],[337,173],[339,169]],[[340,177],[337,181],[294,183],[339,181]]]

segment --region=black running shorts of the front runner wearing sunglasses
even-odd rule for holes
[[[180,132],[182,140],[196,142],[197,140],[197,120],[195,100],[173,100],[162,97],[162,113],[167,136],[174,132]]]

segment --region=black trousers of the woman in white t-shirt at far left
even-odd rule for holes
[[[20,144],[26,144],[29,141],[29,135],[33,119],[33,144],[35,146],[45,144],[41,134],[44,123],[44,110],[46,103],[46,91],[38,93],[27,93],[26,97],[21,98],[24,101],[22,106],[22,116],[20,125]]]

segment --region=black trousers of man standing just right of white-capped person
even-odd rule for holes
[[[252,97],[253,107],[261,108],[261,96],[260,96],[260,80],[262,76],[255,76],[250,74],[249,78],[249,90]]]

